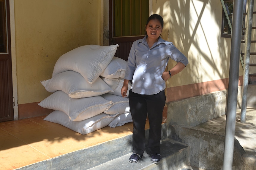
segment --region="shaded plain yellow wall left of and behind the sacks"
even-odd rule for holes
[[[42,101],[40,81],[52,77],[57,59],[88,44],[102,45],[99,0],[15,0],[18,104]]]

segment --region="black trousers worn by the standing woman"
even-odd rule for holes
[[[165,106],[165,90],[154,95],[141,95],[129,91],[129,105],[133,121],[133,153],[143,155],[146,145],[145,124],[148,114],[148,150],[160,154],[162,114]]]

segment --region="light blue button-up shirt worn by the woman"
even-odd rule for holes
[[[188,59],[171,42],[161,37],[149,48],[145,36],[134,41],[127,61],[124,79],[132,80],[132,91],[152,95],[165,89],[162,74],[171,58],[185,66]]]

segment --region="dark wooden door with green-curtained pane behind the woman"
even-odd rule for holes
[[[109,44],[118,44],[116,57],[127,61],[132,43],[145,36],[149,0],[110,0]]]

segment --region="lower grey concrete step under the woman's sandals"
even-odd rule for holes
[[[161,141],[161,162],[151,163],[151,156],[145,151],[143,157],[137,163],[130,163],[129,157],[132,152],[113,159],[99,166],[95,166],[88,170],[177,170],[184,167],[187,162],[188,146],[181,143],[176,143],[173,140],[165,139]],[[192,170],[192,169],[191,169]]]

